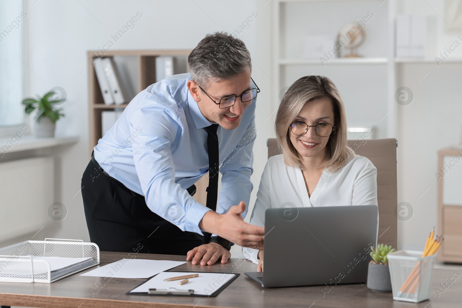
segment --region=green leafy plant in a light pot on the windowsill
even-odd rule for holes
[[[58,121],[61,116],[64,116],[64,114],[60,112],[62,109],[56,109],[54,104],[65,101],[65,99],[54,100],[52,97],[53,94],[55,94],[55,92],[48,92],[43,97],[38,96],[38,100],[35,98],[26,98],[23,100],[26,114],[29,115],[32,111],[37,109],[37,117],[33,121],[36,137],[54,137],[56,121]]]

